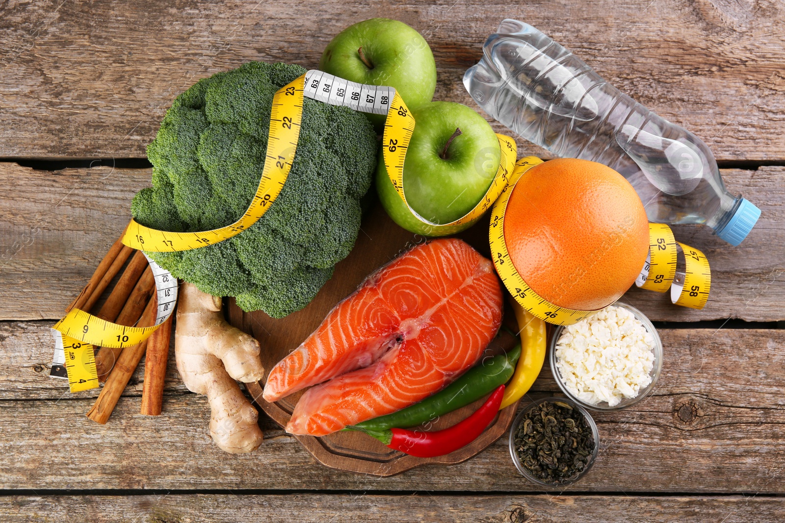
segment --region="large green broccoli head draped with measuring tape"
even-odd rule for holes
[[[177,96],[148,146],[152,187],[133,198],[134,219],[177,232],[238,220],[261,178],[272,96],[303,73],[250,62]],[[376,147],[363,114],[306,98],[287,183],[257,223],[215,245],[148,255],[203,292],[235,296],[245,311],[298,311],[354,245]]]

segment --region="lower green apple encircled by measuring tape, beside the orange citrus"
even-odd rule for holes
[[[463,104],[431,102],[411,111],[415,124],[403,162],[403,192],[425,220],[451,223],[491,187],[501,157],[498,138],[485,118]],[[472,225],[433,227],[418,220],[392,186],[381,153],[376,187],[389,216],[408,231],[445,236]]]

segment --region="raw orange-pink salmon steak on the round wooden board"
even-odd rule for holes
[[[263,397],[305,392],[286,430],[324,436],[403,409],[473,366],[502,323],[493,263],[466,242],[419,245],[371,274],[300,347]]]

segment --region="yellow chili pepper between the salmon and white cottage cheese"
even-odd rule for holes
[[[504,398],[499,410],[523,397],[535,383],[546,353],[546,324],[540,318],[528,311],[513,300],[513,311],[520,329],[520,358],[515,367],[513,379],[509,381],[504,390]]]

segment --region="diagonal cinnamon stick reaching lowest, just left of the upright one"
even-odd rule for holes
[[[149,326],[155,323],[155,314],[157,312],[156,302],[158,300],[153,296],[148,307],[142,314],[140,324],[142,326]],[[149,338],[148,338],[149,340]],[[144,350],[147,348],[148,340],[144,340],[138,345],[126,347],[122,350],[115,366],[109,372],[109,377],[106,380],[104,388],[100,390],[98,398],[96,399],[93,408],[87,412],[87,417],[96,423],[104,424],[108,421],[111,412],[115,410],[117,401],[122,395],[122,391],[126,389],[128,380],[133,376],[133,372],[137,369],[139,361],[144,355]]]

